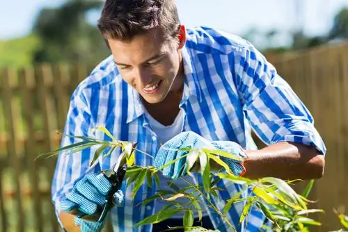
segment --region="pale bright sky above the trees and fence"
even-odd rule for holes
[[[0,0],[0,40],[27,35],[41,8],[56,7],[63,2],[64,0]],[[338,10],[344,6],[348,7],[348,0],[176,0],[176,2],[180,19],[187,26],[212,26],[237,35],[244,35],[251,28],[256,28],[262,33],[275,28],[281,32],[278,44],[287,44],[290,39],[287,33],[296,26],[302,26],[307,35],[326,33]],[[299,3],[299,8],[296,8],[296,3]],[[99,11],[91,13],[88,16],[89,21],[96,24],[99,14]]]

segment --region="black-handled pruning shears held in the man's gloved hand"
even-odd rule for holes
[[[135,149],[138,142],[132,142],[132,149],[130,153]],[[93,222],[104,222],[104,219],[113,206],[116,205],[114,194],[121,188],[122,181],[125,178],[125,174],[127,171],[127,150],[122,151],[120,156],[118,156],[117,162],[111,167],[111,169],[107,169],[102,171],[102,174],[108,179],[111,183],[111,191],[109,195],[101,207],[98,206],[97,210],[93,215],[84,215],[81,217],[82,219],[86,219],[88,221]]]

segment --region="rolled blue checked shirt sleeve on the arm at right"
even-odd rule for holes
[[[235,56],[235,83],[246,117],[266,144],[299,142],[326,153],[308,108],[266,58],[246,42]]]

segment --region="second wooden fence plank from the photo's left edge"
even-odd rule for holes
[[[20,72],[22,78],[20,81],[20,88],[22,92],[23,101],[23,113],[24,121],[26,123],[27,137],[26,137],[26,151],[29,154],[29,178],[31,181],[30,187],[33,192],[33,209],[35,215],[35,230],[43,231],[43,217],[42,217],[42,205],[40,196],[40,185],[38,176],[38,162],[35,162],[37,149],[35,146],[35,129],[33,125],[33,98],[30,90],[34,83],[34,70],[33,68],[23,69]]]

